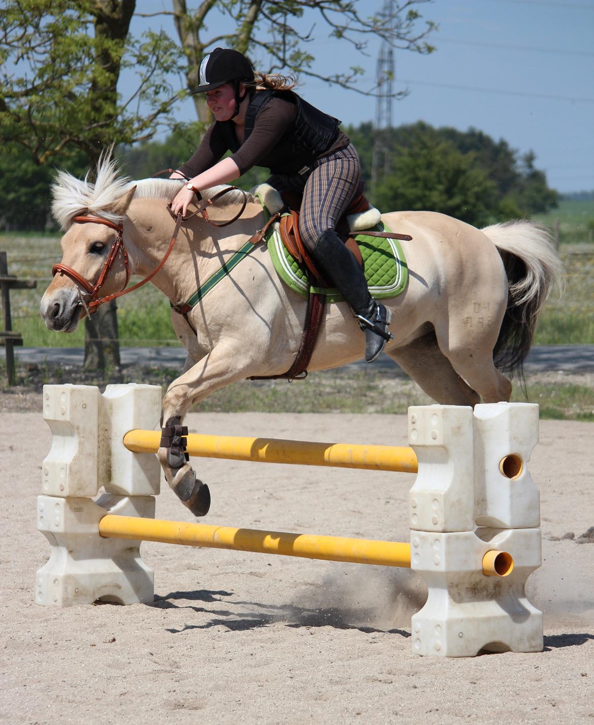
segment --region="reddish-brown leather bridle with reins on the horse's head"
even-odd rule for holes
[[[208,217],[207,214],[207,207],[210,207],[213,202],[215,202],[220,196],[223,196],[223,194],[227,194],[228,191],[233,191],[236,189],[237,191],[242,191],[243,197],[243,203],[242,208],[239,210],[239,212],[234,216],[233,219],[223,222],[223,223],[216,223],[213,222]],[[152,278],[157,274],[157,272],[162,268],[162,266],[167,261],[169,255],[171,254],[171,250],[176,244],[179,229],[181,227],[182,222],[189,221],[192,217],[196,216],[197,214],[202,215],[202,218],[204,218],[209,224],[212,224],[216,227],[223,227],[227,226],[228,224],[234,223],[239,217],[243,214],[244,209],[247,204],[247,194],[243,189],[240,189],[236,186],[228,186],[221,191],[218,191],[217,194],[215,194],[211,199],[202,199],[198,194],[199,202],[197,204],[197,210],[193,212],[191,215],[187,217],[183,217],[181,215],[181,212],[177,215],[176,218],[176,226],[173,230],[173,236],[171,237],[171,241],[168,247],[167,252],[162,257],[162,260],[159,262],[156,268],[152,270],[152,272],[145,277],[142,281],[136,283],[135,285],[128,287],[128,282],[130,281],[130,263],[128,260],[128,251],[125,248],[124,245],[124,238],[123,238],[123,222],[120,222],[119,224],[116,224],[108,219],[104,219],[102,217],[96,217],[96,216],[87,216],[87,215],[80,215],[73,217],[73,222],[78,222],[81,224],[104,224],[107,227],[110,227],[111,229],[114,229],[117,231],[117,236],[114,241],[112,241],[112,246],[110,247],[110,252],[107,254],[107,260],[105,260],[102,270],[99,272],[99,276],[96,279],[96,282],[94,284],[91,284],[88,280],[86,280],[81,274],[79,274],[76,270],[73,270],[72,267],[68,267],[67,265],[63,265],[62,262],[59,262],[59,264],[54,265],[51,268],[51,275],[56,276],[57,274],[65,275],[68,278],[70,278],[76,285],[78,289],[78,296],[81,299],[81,305],[85,308],[85,311],[87,315],[93,315],[94,312],[96,312],[99,309],[100,305],[104,305],[105,302],[111,302],[112,299],[115,299],[116,297],[121,297],[123,294],[128,294],[128,292],[132,292],[135,289],[139,289],[143,284],[146,284]],[[171,212],[171,204],[168,204],[167,208],[172,216],[173,212]],[[115,292],[113,294],[107,294],[104,297],[101,297],[101,289],[102,286],[105,283],[105,280],[107,278],[107,275],[110,273],[110,270],[112,266],[114,265],[115,260],[117,259],[118,255],[121,255],[124,262],[124,269],[125,269],[125,283],[122,289],[120,289],[119,292]],[[83,295],[81,289],[85,291],[86,294]]]

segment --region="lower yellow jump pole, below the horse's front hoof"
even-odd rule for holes
[[[233,526],[210,526],[205,523],[160,521],[113,514],[107,514],[99,521],[99,534],[114,539],[301,556],[355,564],[411,566],[411,544],[401,542],[286,534],[283,531],[236,529]]]

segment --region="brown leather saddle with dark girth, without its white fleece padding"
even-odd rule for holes
[[[301,195],[293,192],[282,192],[282,200],[285,204],[284,210],[279,223],[279,231],[284,246],[289,254],[295,260],[301,262],[308,269],[310,277],[310,286],[328,287],[328,283],[323,279],[321,273],[315,268],[315,263],[311,259],[307,250],[303,246],[303,242],[299,233],[299,215],[301,208]],[[363,258],[359,245],[353,237],[361,232],[350,231],[348,217],[353,214],[366,212],[371,207],[363,188],[363,182],[360,183],[357,194],[355,194],[349,207],[342,215],[337,224],[337,233],[342,237],[348,249],[355,255],[359,264],[363,266]],[[392,232],[365,231],[366,236],[381,236],[387,239],[403,239],[409,241],[412,239],[408,234],[398,234]],[[305,323],[303,325],[303,334],[301,338],[300,348],[293,361],[293,364],[282,375],[265,375],[252,376],[249,380],[276,380],[278,378],[286,378],[291,380],[303,380],[308,376],[308,365],[313,354],[315,341],[318,338],[318,331],[323,318],[323,311],[326,307],[326,294],[324,292],[310,291],[308,297],[308,308],[305,312]]]

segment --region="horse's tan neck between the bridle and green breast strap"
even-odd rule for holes
[[[125,244],[131,254],[132,272],[148,276],[168,250],[175,220],[163,199],[133,201],[128,218],[132,228]],[[194,218],[180,229],[167,262],[152,283],[172,302],[187,299],[197,283],[202,284],[218,271],[262,224],[263,214],[258,204],[248,204],[242,219],[228,227],[218,228],[202,218]]]

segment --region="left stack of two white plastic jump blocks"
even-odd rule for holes
[[[153,571],[141,559],[141,542],[105,539],[99,520],[106,513],[154,518],[157,457],[132,453],[122,440],[132,428],[158,426],[160,412],[157,385],[108,385],[104,394],[94,386],[44,386],[51,449],[41,465],[37,528],[51,555],[36,573],[38,604],[154,600]]]

